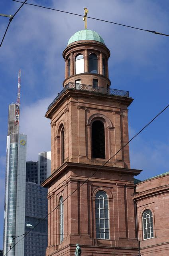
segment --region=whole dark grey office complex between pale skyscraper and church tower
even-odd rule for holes
[[[39,153],[38,160],[26,162],[25,233],[32,231],[25,236],[24,256],[45,256],[47,247],[47,188],[40,183],[51,173],[51,151]]]

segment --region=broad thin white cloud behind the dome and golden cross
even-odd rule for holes
[[[39,4],[38,1],[30,3]],[[83,1],[53,0],[52,3],[50,7],[83,14]],[[88,16],[161,32],[168,30],[167,13],[153,1],[106,0],[103,8],[101,1],[86,0],[85,5],[89,9]],[[64,60],[61,53],[70,36],[83,27],[82,17],[25,5],[10,24],[3,43],[1,61],[4,58],[8,60],[9,72],[14,68],[16,60],[20,61],[26,71],[26,82],[31,87],[35,87],[40,79],[36,71],[40,65],[42,77],[55,91],[55,82],[61,84],[64,78]],[[116,67],[119,62],[130,59],[133,68],[138,72],[140,67],[153,63],[152,57],[163,40],[159,35],[91,19],[88,19],[88,28],[101,34],[110,48],[113,60],[110,61],[110,67]]]

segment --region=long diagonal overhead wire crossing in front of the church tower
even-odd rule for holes
[[[121,147],[112,157],[110,157],[110,159],[108,159],[103,165],[101,165],[92,175],[90,175],[90,177],[88,177],[83,183],[81,183],[81,185],[79,185],[79,187],[77,187],[77,189],[75,189],[69,196],[67,196],[67,198],[65,198],[62,201],[65,202],[70,196],[72,196],[83,184],[86,183],[86,181],[88,181],[92,176],[94,176],[102,167],[104,167],[106,165],[106,163],[108,163],[108,161],[110,161],[118,152],[120,152],[124,147],[126,147],[126,145],[128,145],[136,136],[138,136],[150,123],[152,123],[159,115],[161,115],[161,113],[163,113],[163,111],[165,111],[165,109],[167,109],[169,107],[169,105],[167,105],[160,113],[158,113],[149,123],[147,123],[147,125],[145,125],[138,133],[136,133],[136,135],[134,135],[134,137],[132,137],[132,139],[130,139],[123,147]],[[47,216],[45,216],[45,218],[43,218],[40,222],[38,222],[31,230],[29,230],[26,234],[24,234],[24,236],[16,243],[14,244],[14,246],[16,246],[25,236],[27,236],[34,228],[36,228],[43,220],[45,220],[53,211],[55,211],[57,208],[59,208],[60,204],[55,207],[51,212],[49,212],[49,214],[47,214]],[[14,246],[12,246],[12,248],[14,248]],[[12,249],[11,248],[11,249]],[[11,250],[10,249],[10,250]],[[8,252],[10,251],[8,250]],[[8,253],[6,252],[6,254]],[[6,255],[4,254],[4,256]]]

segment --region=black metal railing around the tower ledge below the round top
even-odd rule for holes
[[[57,95],[57,97],[52,101],[52,103],[49,105],[47,110],[49,110],[53,104],[59,99],[59,97],[67,90],[67,89],[73,89],[73,90],[81,90],[81,91],[89,91],[89,92],[94,92],[94,93],[103,93],[107,95],[116,95],[116,96],[122,96],[122,97],[129,97],[129,92],[128,91],[122,91],[122,90],[117,90],[117,89],[108,89],[104,87],[94,87],[92,85],[83,85],[83,84],[78,84],[78,83],[71,83],[69,82],[65,88]]]

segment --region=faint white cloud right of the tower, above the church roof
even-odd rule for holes
[[[150,132],[150,131],[149,131]],[[136,132],[130,127],[130,138]],[[144,135],[138,135],[130,143],[130,164],[131,168],[143,170],[138,179],[147,179],[155,175],[169,171],[168,155],[169,155],[169,137],[166,143],[154,140],[148,141],[144,139]]]

